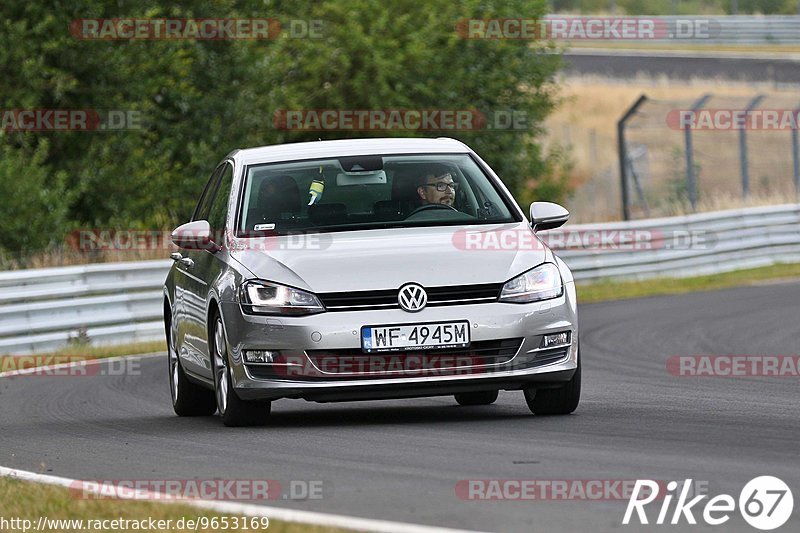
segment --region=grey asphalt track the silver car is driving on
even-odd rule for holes
[[[271,424],[181,419],[166,361],[139,375],[0,379],[0,465],[78,479],[321,480],[323,498],[270,505],[486,531],[654,531],[623,526],[624,500],[464,501],[465,479],[707,483],[738,499],[760,475],[794,490],[778,531],[800,529],[798,378],[686,378],[667,358],[797,354],[800,283],[581,306],[584,393],[567,417],[452,398],[348,404],[284,400]],[[659,504],[655,504],[659,505]],[[702,505],[702,504],[701,504]],[[648,508],[651,521],[657,507]],[[671,515],[671,513],[670,513]],[[702,523],[702,510],[695,513]],[[734,513],[724,526],[756,531]]]

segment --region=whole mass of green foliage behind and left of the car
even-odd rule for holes
[[[231,150],[317,138],[456,137],[518,197],[555,199],[566,190],[563,165],[559,155],[542,152],[538,138],[554,105],[559,56],[543,43],[467,40],[455,31],[461,19],[545,12],[544,0],[8,0],[0,6],[4,109],[135,111],[142,128],[0,136],[0,189],[26,188],[18,194],[35,197],[2,208],[0,234],[36,227],[32,213],[44,205],[42,225],[50,228],[170,227],[189,216],[210,171]],[[323,36],[106,41],[69,33],[75,19],[119,17],[320,20]],[[526,127],[372,134],[273,125],[278,110],[329,108],[515,111]],[[24,185],[11,179],[22,167],[31,176]],[[46,244],[33,233],[0,241],[7,250]]]

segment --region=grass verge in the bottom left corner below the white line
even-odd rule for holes
[[[198,527],[182,529],[178,528],[178,521],[183,518],[184,520],[197,520],[201,517],[208,519],[222,517],[228,518],[228,531],[266,531],[267,528],[259,527],[250,529],[232,529],[231,525],[234,524],[235,517],[233,515],[218,514],[213,511],[198,509],[189,505],[183,504],[166,504],[159,502],[145,502],[145,501],[130,501],[130,500],[117,500],[117,499],[101,499],[101,500],[84,500],[78,499],[69,489],[58,487],[54,485],[45,485],[40,483],[31,483],[27,481],[20,481],[10,478],[0,478],[0,501],[3,502],[2,518],[9,520],[12,518],[20,518],[23,520],[31,521],[31,530],[36,527],[39,517],[46,517],[51,520],[83,520],[84,526],[90,524],[88,520],[171,520],[171,527],[158,529],[158,531],[220,531],[222,530],[221,524],[217,528]],[[239,517],[240,523],[243,517]],[[221,521],[221,520],[220,520]],[[146,524],[147,522],[145,522]],[[248,519],[248,524],[250,520]],[[164,523],[166,525],[166,522]],[[185,524],[185,522],[184,522]],[[130,525],[130,524],[121,524]],[[12,531],[22,531],[20,528],[12,528]],[[75,524],[71,527],[60,527],[58,529],[46,528],[39,531],[132,531],[134,528],[128,527],[127,529],[79,529]],[[281,522],[278,520],[269,521],[269,531],[271,533],[339,533],[347,530],[310,526],[306,524],[293,524],[288,522]]]

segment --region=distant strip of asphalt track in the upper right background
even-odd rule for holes
[[[765,57],[680,55],[677,53],[570,50],[564,54],[564,72],[616,79],[639,75],[672,80],[716,79],[742,83],[800,83],[800,61],[789,54]]]

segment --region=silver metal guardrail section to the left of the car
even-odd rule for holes
[[[0,354],[164,338],[161,286],[172,261],[0,272]]]

